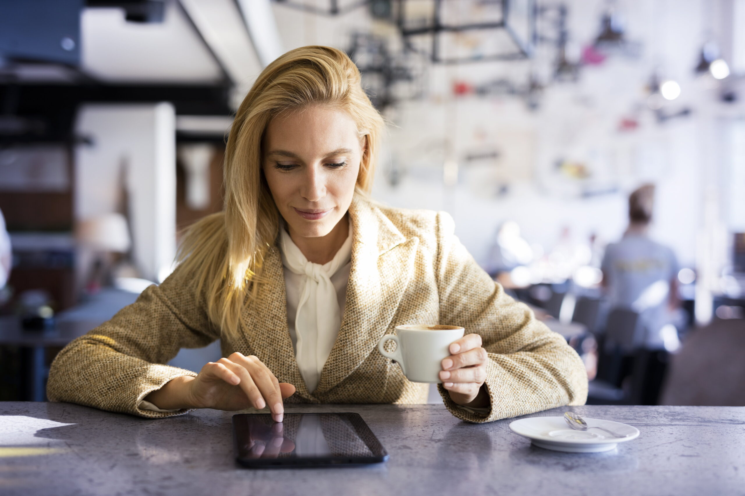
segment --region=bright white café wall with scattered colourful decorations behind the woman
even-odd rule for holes
[[[606,2],[566,3],[571,41],[592,43]],[[513,96],[456,98],[451,91],[456,80],[478,84],[507,77],[520,83],[539,68],[536,62],[430,67],[426,97],[402,103],[387,115],[394,126],[388,130],[374,196],[403,207],[448,210],[463,243],[484,261],[495,229],[505,219],[518,221],[524,237],[546,249],[563,226],[571,228],[576,241],[590,233],[604,242],[618,239],[627,224],[627,193],[652,181],[658,186],[653,236],[672,245],[682,264],[694,265],[706,184],[723,167],[717,120],[745,114],[742,104],[719,103],[717,91],[703,88],[693,71],[708,36],[720,45],[726,42],[720,36],[728,22],[722,14],[725,3],[617,2],[627,38],[641,45],[640,57],[610,58],[583,68],[578,83],[551,84],[536,112]],[[337,17],[281,4],[274,11],[287,49],[315,43],[347,48],[353,30],[390,33],[396,45],[395,30],[371,20],[364,8]],[[682,87],[666,111],[689,107],[690,117],[656,122],[645,101],[645,85],[654,70]],[[619,132],[622,117],[637,119],[638,128]],[[472,164],[464,160],[470,152],[489,150],[499,157]],[[589,164],[593,178],[566,178],[554,170],[557,158]],[[454,186],[443,182],[446,161],[458,164]],[[395,187],[387,181],[392,168],[401,175]],[[503,185],[507,193],[500,195]],[[583,198],[583,189],[615,193]]]

